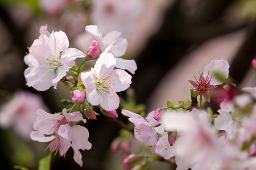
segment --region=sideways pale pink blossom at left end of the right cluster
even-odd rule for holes
[[[130,117],[129,121],[134,124],[134,136],[138,141],[141,141],[144,145],[148,146],[154,146],[156,144],[158,141],[158,134],[156,133],[154,126],[159,125],[160,121],[156,121],[153,118],[155,111],[148,113],[146,118],[125,109],[123,109],[121,113]]]

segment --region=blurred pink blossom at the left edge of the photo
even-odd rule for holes
[[[42,97],[28,91],[15,92],[8,103],[1,105],[0,126],[5,129],[12,126],[20,137],[30,139],[38,109],[48,110]]]

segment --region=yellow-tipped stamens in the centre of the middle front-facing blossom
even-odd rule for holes
[[[102,92],[102,93],[108,93],[109,91],[112,90],[112,87],[114,85],[114,80],[110,79],[112,77],[112,75],[108,75],[105,76],[106,74],[102,75],[103,77],[101,78],[97,78],[96,77],[96,81],[95,81],[95,86],[97,88],[98,91]]]

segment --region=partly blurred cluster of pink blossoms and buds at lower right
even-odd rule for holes
[[[239,90],[230,83],[228,69],[223,58],[208,63],[196,82],[189,80],[191,100],[180,101],[180,105],[168,101],[167,107],[146,117],[123,109],[122,114],[134,124],[134,137],[152,149],[150,159],[134,152],[123,163],[136,169],[138,161],[144,162],[139,165],[143,168],[152,159],[162,158],[176,163],[177,169],[255,169],[256,91]],[[240,92],[226,95],[235,91]],[[210,98],[220,103],[218,114],[204,109],[204,101]]]

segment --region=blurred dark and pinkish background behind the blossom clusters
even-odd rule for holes
[[[188,80],[194,80],[212,59],[228,60],[234,82],[254,87],[255,17],[255,0],[0,0],[1,167],[38,168],[38,161],[48,154],[48,143],[26,137],[22,127],[29,125],[28,131],[32,130],[33,118],[16,113],[34,113],[31,108],[36,107],[60,112],[65,106],[59,101],[71,95],[61,83],[57,90],[44,92],[26,86],[23,58],[38,39],[41,25],[47,24],[49,32],[64,31],[69,47],[84,53],[93,40],[85,32],[86,25],[98,25],[103,35],[121,31],[128,41],[123,58],[135,59],[138,66],[129,92],[137,104],[146,105],[148,113],[165,107],[167,100],[177,104],[190,99]],[[126,121],[120,111],[119,120]],[[119,128],[104,116],[85,126],[93,146],[82,151],[83,167],[75,163],[70,149],[65,159],[53,156],[52,169],[120,169],[120,155],[113,157],[110,151]]]

